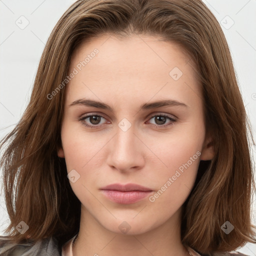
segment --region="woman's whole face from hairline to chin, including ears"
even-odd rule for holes
[[[149,35],[76,48],[58,155],[81,218],[135,234],[180,213],[199,161],[212,157],[194,70],[180,46]],[[145,188],[122,186],[131,183]]]

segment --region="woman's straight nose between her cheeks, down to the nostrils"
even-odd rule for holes
[[[115,136],[108,143],[107,164],[119,171],[137,170],[144,166],[145,146],[134,133],[133,126],[123,131],[117,127]]]

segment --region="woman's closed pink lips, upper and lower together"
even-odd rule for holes
[[[153,190],[134,183],[114,183],[100,188],[111,201],[122,204],[134,203],[148,196]]]

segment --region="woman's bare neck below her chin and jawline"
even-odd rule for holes
[[[73,244],[73,256],[188,256],[180,239],[180,212],[175,212],[162,225],[144,233],[122,234],[104,228],[81,205],[78,236]]]

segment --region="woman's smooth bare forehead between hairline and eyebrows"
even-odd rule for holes
[[[93,91],[98,97],[134,99],[140,95],[147,101],[156,94],[200,94],[196,68],[186,51],[173,41],[151,35],[92,38],[73,51],[69,72],[74,68],[77,74],[66,88],[70,100]]]

